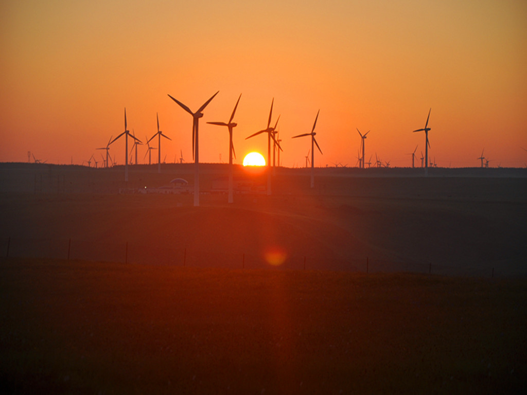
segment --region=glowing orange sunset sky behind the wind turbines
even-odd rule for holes
[[[200,161],[235,163],[267,152],[245,137],[281,114],[282,164],[303,166],[317,111],[318,166],[392,166],[424,152],[438,166],[527,163],[527,3],[518,1],[11,1],[0,5],[1,162],[81,164],[128,126],[144,140],[161,130],[167,162],[192,160],[192,110],[220,93],[200,121]],[[157,146],[157,143],[154,145]],[[124,163],[124,141],[111,146]],[[143,160],[145,149],[139,151]],[[157,157],[157,156],[156,156]],[[148,160],[148,157],[147,157]]]

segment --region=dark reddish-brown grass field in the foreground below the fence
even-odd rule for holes
[[[0,260],[2,393],[520,393],[525,279]]]

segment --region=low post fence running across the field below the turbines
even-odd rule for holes
[[[98,262],[122,262],[155,265],[179,265],[195,268],[221,267],[229,269],[278,268],[290,270],[334,270],[363,273],[410,272],[453,276],[508,276],[510,265],[454,266],[425,262],[388,262],[364,258],[311,259],[307,255],[286,256],[280,264],[269,263],[263,255],[251,253],[218,254],[213,251],[187,248],[151,248],[136,243],[110,243],[74,239],[0,239],[0,256],[6,258],[46,258]],[[514,265],[514,267],[516,267]]]

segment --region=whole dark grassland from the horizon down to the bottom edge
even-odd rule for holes
[[[0,392],[524,388],[522,169],[318,169],[313,190],[277,169],[272,196],[232,205],[212,190],[225,170],[203,166],[194,208],[118,194],[192,183],[188,165],[124,183],[122,167],[0,164]],[[128,263],[68,261],[68,240],[110,257],[127,243]],[[42,258],[42,241],[61,251]]]

